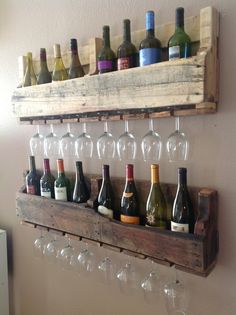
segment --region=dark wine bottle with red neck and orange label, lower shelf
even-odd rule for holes
[[[133,164],[126,165],[125,189],[121,198],[121,222],[140,224],[138,195],[134,183]]]

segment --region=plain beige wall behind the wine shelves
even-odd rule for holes
[[[19,126],[11,113],[11,92],[17,85],[17,57],[26,51],[38,55],[40,47],[52,53],[54,42],[62,48],[71,37],[80,44],[93,36],[100,36],[103,24],[111,26],[111,34],[121,32],[121,20],[129,17],[132,28],[144,26],[144,12],[154,9],[160,23],[174,17],[176,6],[183,5],[187,15],[213,5],[221,12],[220,26],[220,104],[218,113],[203,117],[189,117],[181,121],[191,141],[189,183],[208,186],[219,192],[220,253],[214,271],[206,279],[181,274],[189,288],[191,315],[233,315],[236,313],[236,145],[235,145],[235,82],[236,82],[236,1],[235,0],[1,0],[0,1],[0,226],[8,231],[10,253],[11,314],[15,315],[143,315],[166,314],[164,302],[147,305],[142,294],[120,294],[114,285],[106,287],[94,279],[78,277],[61,271],[56,265],[34,259],[32,242],[37,231],[19,225],[15,215],[15,191],[22,185],[22,171],[27,167],[28,140],[34,128]],[[163,140],[173,130],[173,119],[155,121]],[[111,126],[118,136],[123,125]],[[137,137],[147,129],[147,121],[132,122]],[[64,126],[56,128],[58,134]],[[42,132],[46,133],[47,128]],[[81,126],[73,126],[79,134]],[[96,137],[101,124],[90,124],[89,132]],[[86,163],[89,171],[99,172],[100,163]],[[121,163],[113,162],[112,173],[123,172]],[[174,182],[177,165],[161,161],[161,180]],[[136,177],[148,178],[148,166],[135,162]],[[99,257],[104,250],[97,251]],[[119,260],[125,259],[120,255]],[[148,264],[134,264],[147,272]],[[161,268],[167,278],[173,270]],[[0,314],[1,315],[1,314]]]

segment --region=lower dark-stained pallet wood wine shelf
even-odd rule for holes
[[[98,180],[91,182],[90,204],[99,189]],[[124,179],[112,179],[115,196],[121,196]],[[150,183],[136,181],[140,208],[147,198]],[[162,184],[166,200],[171,202],[176,185]],[[176,233],[154,227],[133,226],[111,220],[89,208],[88,204],[61,202],[25,193],[16,196],[17,216],[27,225],[47,228],[86,239],[139,258],[151,258],[158,263],[196,275],[207,276],[216,263],[218,253],[217,192],[212,189],[190,188],[197,221],[194,234]],[[120,202],[116,197],[115,207]]]

